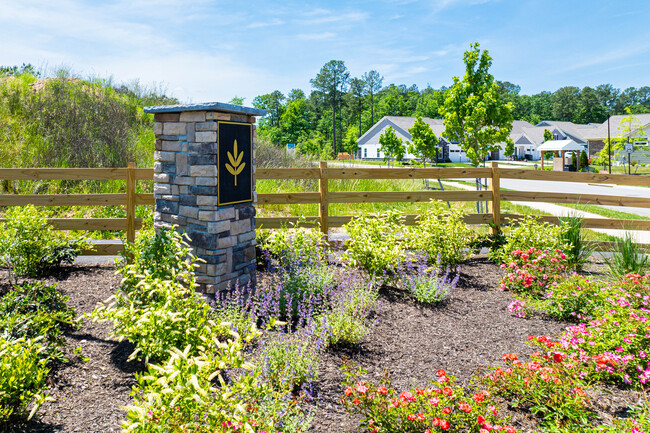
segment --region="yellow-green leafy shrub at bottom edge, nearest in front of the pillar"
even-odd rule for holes
[[[137,375],[134,402],[126,407],[125,431],[133,433],[306,430],[309,419],[284,392],[270,388],[244,361],[242,335],[226,343],[204,341],[214,347],[191,356],[172,349],[161,365],[149,365]],[[224,369],[243,373],[227,380]]]

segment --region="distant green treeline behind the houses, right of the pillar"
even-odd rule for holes
[[[331,155],[333,145],[337,152],[354,152],[357,138],[382,116],[441,118],[439,108],[447,90],[383,86],[383,77],[377,71],[351,78],[345,64],[338,60],[323,66],[311,83],[309,96],[300,89],[287,95],[276,90],[253,100],[255,107],[268,112],[260,121],[261,136],[277,145],[295,143],[302,153]],[[497,83],[501,98],[514,107],[515,120],[532,124],[542,120],[602,123],[608,110],[612,115],[625,114],[627,107],[633,114],[650,112],[649,86],[623,91],[611,84],[582,89],[567,86],[555,92],[522,95],[516,84]]]

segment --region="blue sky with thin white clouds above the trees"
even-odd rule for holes
[[[624,89],[650,85],[648,17],[648,0],[0,0],[0,65],[250,105],[276,89],[309,93],[332,59],[351,76],[375,69],[384,85],[450,85],[479,41],[495,78],[522,93]]]

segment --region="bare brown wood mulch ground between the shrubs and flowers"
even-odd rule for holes
[[[598,271],[598,264],[588,270]],[[70,297],[70,304],[82,315],[98,301],[108,298],[119,285],[112,266],[74,266],[48,280]],[[501,363],[504,353],[520,358],[530,353],[529,334],[558,335],[566,324],[538,315],[518,319],[506,311],[512,297],[497,290],[502,271],[485,256],[474,257],[461,266],[458,287],[443,304],[425,307],[405,292],[383,287],[381,307],[375,324],[362,343],[331,348],[320,364],[311,405],[311,432],[357,432],[358,420],[339,405],[344,376],[340,366],[355,362],[367,369],[364,379],[377,382],[389,372],[393,386],[407,389],[426,386],[439,368],[467,384],[477,369]],[[0,270],[0,285],[7,275]],[[50,394],[55,402],[46,403],[37,421],[13,425],[4,431],[16,432],[118,432],[130,403],[129,392],[135,383],[134,372],[144,366],[126,362],[132,351],[128,343],[108,339],[109,323],[83,319],[79,331],[66,335],[69,350],[81,347],[88,362],[71,355],[71,362],[58,366],[52,374]],[[600,419],[607,422],[620,416],[639,394],[616,388],[591,391],[598,401]],[[512,412],[511,424],[525,431],[532,420]],[[2,430],[2,428],[0,428]]]

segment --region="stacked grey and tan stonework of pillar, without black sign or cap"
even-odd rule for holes
[[[255,142],[253,202],[217,206],[217,122],[253,124],[255,117],[218,111],[155,114],[154,221],[176,225],[205,263],[197,269],[200,290],[214,294],[236,282],[255,284]]]

